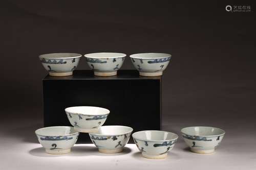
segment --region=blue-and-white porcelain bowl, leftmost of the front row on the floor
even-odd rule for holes
[[[74,127],[53,126],[35,131],[38,141],[49,154],[67,154],[76,143],[79,132]]]

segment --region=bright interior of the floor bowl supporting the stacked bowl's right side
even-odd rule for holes
[[[133,128],[127,126],[101,126],[98,132],[91,133],[93,135],[122,135],[131,133]]]

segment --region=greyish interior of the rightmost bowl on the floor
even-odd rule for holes
[[[225,131],[214,127],[187,127],[181,133],[191,136],[218,136],[225,134]]]

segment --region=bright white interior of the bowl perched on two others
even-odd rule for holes
[[[74,114],[84,114],[84,115],[104,115],[109,114],[110,111],[101,107],[93,107],[93,106],[75,106],[68,107],[65,111]]]

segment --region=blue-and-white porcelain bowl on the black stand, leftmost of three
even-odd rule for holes
[[[50,76],[70,76],[82,56],[74,53],[42,54],[39,59]]]

